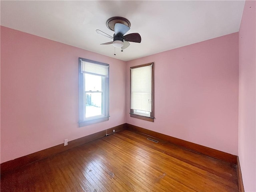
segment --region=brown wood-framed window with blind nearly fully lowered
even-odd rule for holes
[[[154,122],[153,63],[130,68],[130,116]]]

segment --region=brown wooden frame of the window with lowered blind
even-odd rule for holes
[[[131,108],[131,100],[132,100],[132,72],[131,69],[133,68],[140,68],[144,66],[152,65],[152,76],[151,76],[151,112],[149,116],[143,115],[142,113],[136,113],[134,109]],[[142,64],[138,66],[130,67],[130,117],[138,118],[141,120],[146,120],[150,122],[154,122],[154,62]]]

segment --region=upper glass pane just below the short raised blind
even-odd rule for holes
[[[102,91],[102,76],[84,74],[86,91]]]

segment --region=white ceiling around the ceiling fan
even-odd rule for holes
[[[2,1],[1,25],[128,61],[239,31],[244,1]],[[141,43],[100,45],[106,20],[122,16]]]

